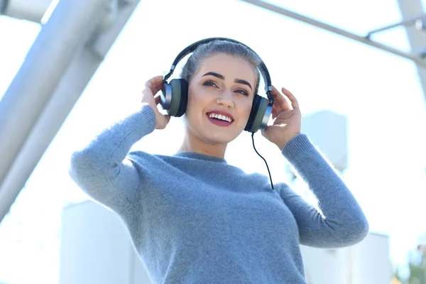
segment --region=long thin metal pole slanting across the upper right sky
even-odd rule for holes
[[[322,23],[320,21],[314,20],[312,18],[308,18],[306,16],[302,16],[298,13],[294,13],[292,11],[283,9],[281,7],[278,6],[274,6],[273,4],[269,4],[260,0],[241,0],[256,6],[259,6],[263,9],[267,9],[269,11],[273,11],[275,13],[280,13],[283,16],[288,16],[290,18],[294,18],[297,21],[302,21],[303,23],[309,23],[312,26],[316,26],[317,28],[322,28],[326,31],[330,31],[332,33],[337,33],[338,35],[342,35],[346,38],[351,38],[352,40],[356,40],[359,41],[360,43],[365,43],[367,45],[371,45],[375,48],[379,48],[381,50],[385,50],[389,53],[393,53],[395,55],[401,56],[403,58],[407,58],[410,60],[413,60],[414,62],[417,63],[417,65],[422,66],[422,67],[426,67],[426,61],[422,60],[422,58],[418,57],[417,55],[412,55],[410,53],[404,53],[403,51],[397,50],[395,48],[391,48],[387,45],[383,45],[381,43],[376,43],[373,40],[369,40],[368,38],[364,37],[364,36],[359,36],[356,35],[354,33],[349,33],[348,31],[344,31],[341,28],[336,28],[334,26],[330,26],[327,23]]]

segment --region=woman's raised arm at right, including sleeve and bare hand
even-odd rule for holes
[[[314,192],[320,207],[320,211],[315,209],[287,185],[279,187],[281,198],[299,226],[300,243],[339,247],[361,241],[368,233],[364,213],[332,166],[307,136],[300,134],[302,114],[299,103],[288,89],[281,90],[283,94],[275,87],[272,89],[275,97],[273,124],[263,131],[263,136],[280,148]]]

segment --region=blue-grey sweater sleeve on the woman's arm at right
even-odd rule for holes
[[[361,207],[307,136],[293,138],[282,153],[316,195],[320,208],[305,202],[287,185],[280,187],[280,196],[299,227],[300,244],[337,248],[363,240],[368,234],[368,222]]]

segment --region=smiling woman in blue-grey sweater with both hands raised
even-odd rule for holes
[[[181,74],[188,99],[175,155],[129,153],[170,120],[157,107],[161,76],[146,82],[140,110],[72,155],[72,178],[124,220],[153,283],[305,283],[300,244],[350,246],[368,232],[351,192],[300,133],[288,90],[273,88],[273,124],[262,134],[307,182],[321,212],[288,185],[271,190],[266,176],[224,160],[249,119],[260,64],[256,53],[226,40],[192,53]]]

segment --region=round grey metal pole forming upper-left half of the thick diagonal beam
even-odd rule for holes
[[[108,3],[61,0],[35,39],[0,101],[0,187],[62,75],[104,16]],[[15,199],[4,194],[2,189],[0,221]]]

